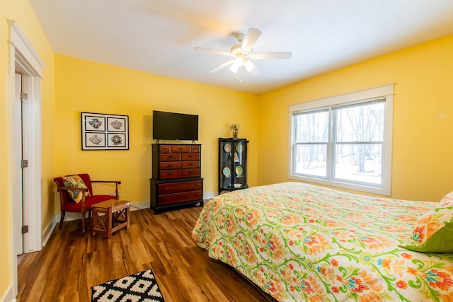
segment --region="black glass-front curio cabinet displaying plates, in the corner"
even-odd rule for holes
[[[219,139],[219,193],[247,185],[246,139]]]

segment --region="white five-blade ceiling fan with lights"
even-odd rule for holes
[[[289,59],[292,57],[291,52],[253,52],[252,48],[255,45],[258,37],[260,37],[261,31],[257,28],[250,28],[247,35],[243,33],[237,33],[236,39],[239,44],[231,47],[231,52],[222,52],[222,50],[212,50],[205,47],[195,47],[195,50],[202,50],[204,52],[212,52],[214,54],[222,54],[224,56],[232,57],[228,62],[221,64],[214,69],[210,70],[210,73],[219,71],[220,69],[229,66],[229,69],[234,73],[244,66],[246,70],[253,76],[256,76],[260,71],[256,68],[255,64],[251,60],[262,60],[262,59]]]

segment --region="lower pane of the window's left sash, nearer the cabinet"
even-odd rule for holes
[[[294,152],[294,173],[326,177],[326,144],[296,145]]]

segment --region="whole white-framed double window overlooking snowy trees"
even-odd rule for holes
[[[390,195],[393,84],[289,107],[289,178]]]

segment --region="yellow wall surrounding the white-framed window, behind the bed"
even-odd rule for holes
[[[448,35],[260,95],[258,182],[289,180],[288,105],[395,83],[391,197],[440,200],[453,190],[452,79]]]

